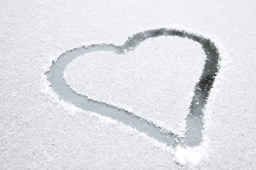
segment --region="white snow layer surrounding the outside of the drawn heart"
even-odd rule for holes
[[[256,169],[255,0],[1,0],[0,9],[0,169]],[[47,84],[46,66],[64,51],[154,28],[201,34],[220,52],[200,148],[166,147],[59,101]]]

